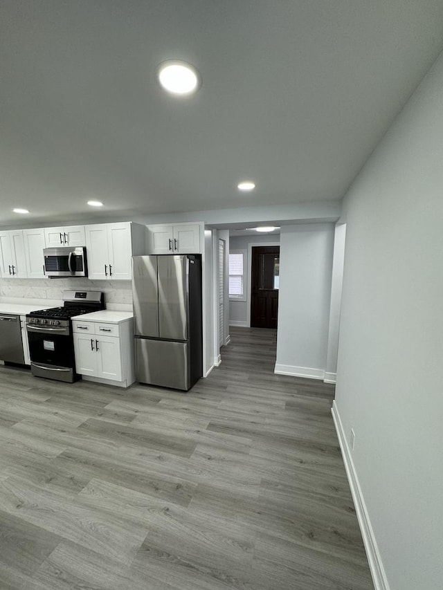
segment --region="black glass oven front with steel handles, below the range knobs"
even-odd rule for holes
[[[75,380],[74,342],[70,326],[27,324],[31,372],[59,381]]]

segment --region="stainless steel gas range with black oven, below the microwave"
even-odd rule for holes
[[[30,367],[33,375],[72,383],[75,373],[71,317],[105,308],[101,291],[64,291],[63,307],[26,315]]]

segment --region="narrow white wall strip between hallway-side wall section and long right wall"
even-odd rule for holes
[[[338,333],[340,327],[341,289],[343,286],[343,265],[345,262],[346,224],[337,223],[334,237],[334,259],[332,261],[331,306],[329,308],[329,331],[327,334],[327,357],[325,381],[336,382]]]

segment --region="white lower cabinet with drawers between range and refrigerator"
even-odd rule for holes
[[[133,322],[73,320],[75,368],[85,379],[128,387],[135,380]]]

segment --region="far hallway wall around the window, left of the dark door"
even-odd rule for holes
[[[266,246],[267,244],[280,243],[280,234],[276,235],[252,235],[237,236],[230,238],[230,252],[234,250],[246,250],[246,260],[244,261],[244,293],[245,301],[236,301],[231,299],[229,302],[229,323],[231,326],[251,325],[251,247]]]

